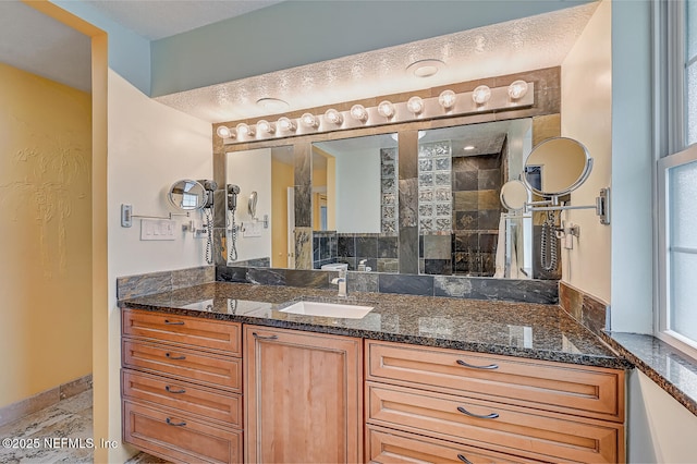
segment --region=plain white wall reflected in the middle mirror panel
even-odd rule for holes
[[[337,232],[380,233],[380,149],[337,156]]]

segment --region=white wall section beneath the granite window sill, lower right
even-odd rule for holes
[[[639,370],[627,388],[627,462],[694,463],[697,416]]]

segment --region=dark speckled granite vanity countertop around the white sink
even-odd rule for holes
[[[362,319],[282,313],[298,300],[375,306]],[[124,300],[124,308],[555,361],[629,365],[559,306],[212,282]]]

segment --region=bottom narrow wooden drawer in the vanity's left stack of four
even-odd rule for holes
[[[123,440],[182,463],[241,463],[242,431],[211,426],[131,401],[123,402]]]

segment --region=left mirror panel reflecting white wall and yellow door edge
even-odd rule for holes
[[[237,259],[228,264],[294,267],[294,254],[289,253],[295,244],[293,147],[231,151],[227,157],[225,182],[240,186],[241,198],[249,198],[247,208],[235,212]],[[271,218],[268,229],[256,219],[267,213]]]

